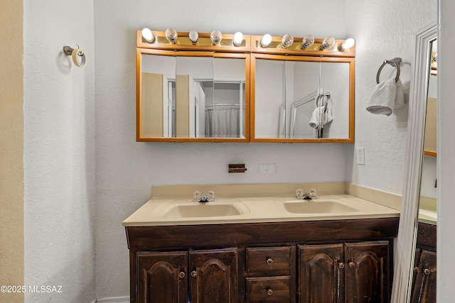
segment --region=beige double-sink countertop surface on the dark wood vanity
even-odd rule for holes
[[[293,187],[294,188],[294,187]],[[398,217],[400,211],[370,202],[350,194],[324,194],[333,190],[321,189],[315,199],[296,200],[293,194],[255,197],[254,194],[237,196],[236,194],[215,194],[214,202],[205,204],[193,202],[178,196],[152,197],[131,216],[123,221],[123,226],[163,226],[194,224],[234,224],[277,221],[314,221],[335,219],[368,219]],[[159,195],[158,195],[159,196]],[[176,198],[173,198],[176,197]],[[204,216],[203,212],[210,206],[233,205],[238,214],[229,216]],[[309,206],[304,213],[288,211],[284,206]],[[292,205],[291,205],[292,204]],[[298,204],[298,205],[297,205]],[[325,204],[325,205],[323,205]],[[181,216],[176,209],[180,206],[191,206],[197,209],[194,216]],[[198,206],[197,208],[194,206]],[[319,206],[327,211],[319,211]],[[316,211],[314,210],[316,209]]]

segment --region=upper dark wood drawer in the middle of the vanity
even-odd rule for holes
[[[291,275],[295,247],[247,248],[248,276]]]

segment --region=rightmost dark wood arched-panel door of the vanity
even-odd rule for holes
[[[390,302],[389,242],[346,243],[346,303]]]

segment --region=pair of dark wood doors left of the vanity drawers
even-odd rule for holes
[[[194,303],[237,303],[237,268],[235,248],[141,251],[137,253],[137,299],[147,303],[187,303],[189,297]]]

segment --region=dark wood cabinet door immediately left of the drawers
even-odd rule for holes
[[[191,303],[237,303],[237,249],[190,251]]]

